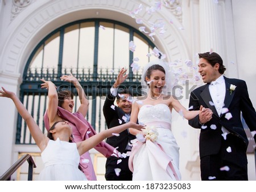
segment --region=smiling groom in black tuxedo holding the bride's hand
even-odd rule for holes
[[[222,58],[217,53],[199,54],[199,72],[204,86],[191,92],[189,106],[210,108],[189,120],[201,129],[199,152],[202,180],[248,180],[246,149],[248,139],[243,130],[241,112],[256,140],[256,113],[249,99],[245,81],[229,79]],[[202,108],[202,107],[201,107]]]

